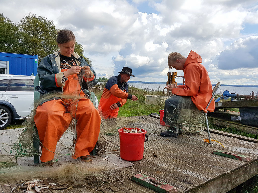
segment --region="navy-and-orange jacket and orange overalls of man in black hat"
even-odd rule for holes
[[[105,89],[101,95],[98,110],[100,115],[107,118],[116,118],[119,107],[122,107],[127,99],[131,99],[132,95],[128,93],[128,83],[121,83],[121,76],[112,76],[109,78]],[[117,103],[118,108],[111,110],[110,106]]]

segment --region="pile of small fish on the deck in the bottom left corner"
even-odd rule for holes
[[[9,184],[4,184],[4,186],[11,186]],[[23,192],[26,193],[35,193],[33,191],[33,189],[35,189],[36,192],[41,193],[43,190],[46,189],[50,189],[50,190],[69,190],[73,188],[71,187],[65,187],[63,186],[61,183],[47,183],[46,179],[43,180],[38,180],[38,179],[33,179],[30,181],[19,181],[19,183],[17,183],[17,186],[15,186],[11,192],[13,192],[14,190],[16,190],[17,192],[19,192],[19,190],[23,190]]]

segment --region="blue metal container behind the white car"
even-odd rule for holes
[[[0,52],[0,74],[36,76],[38,55]]]

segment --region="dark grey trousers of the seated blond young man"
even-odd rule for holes
[[[178,109],[184,109],[184,104],[180,103],[182,101],[191,101],[192,102],[192,99],[190,96],[177,96],[177,95],[174,95],[174,96],[171,96],[170,98],[168,98],[166,101],[165,101],[165,106],[164,106],[164,116],[163,116],[163,121],[168,125],[168,126],[172,126],[172,125],[175,125],[175,122],[178,118],[178,113],[174,113],[175,111],[175,108],[178,108]],[[192,105],[195,106],[192,102]],[[180,106],[180,107],[179,107]],[[173,122],[171,122],[171,119],[167,119],[167,115],[170,115],[172,116],[174,119]]]

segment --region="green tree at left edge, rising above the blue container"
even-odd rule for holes
[[[0,51],[22,53],[23,47],[19,42],[19,29],[15,23],[0,13]]]

